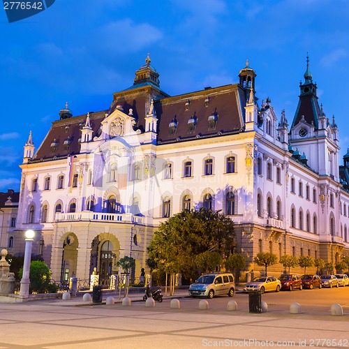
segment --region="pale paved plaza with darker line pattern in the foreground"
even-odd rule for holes
[[[198,299],[181,298],[185,302]],[[0,304],[0,348],[346,348],[349,315],[154,308],[52,299]],[[230,300],[226,297],[227,302]],[[105,297],[103,299],[105,301]],[[214,301],[214,299],[212,299]],[[103,302],[104,303],[104,302]],[[211,303],[214,304],[214,303]]]

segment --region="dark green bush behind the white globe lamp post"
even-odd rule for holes
[[[20,279],[23,275],[23,267],[18,272]],[[47,264],[41,260],[34,260],[30,263],[29,271],[29,292],[46,293],[51,289],[51,271]]]

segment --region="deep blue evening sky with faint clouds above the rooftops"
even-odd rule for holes
[[[0,9],[0,191],[20,188],[23,146],[36,149],[66,101],[75,116],[105,110],[150,53],[170,95],[238,82],[246,59],[278,119],[295,114],[309,52],[341,156],[349,147],[349,1],[56,0],[8,23]],[[340,161],[342,164],[342,159]]]

